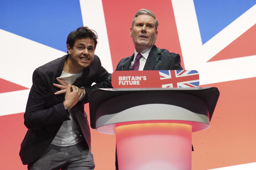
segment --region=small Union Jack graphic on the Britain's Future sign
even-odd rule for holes
[[[198,87],[196,70],[159,70],[162,87]]]

